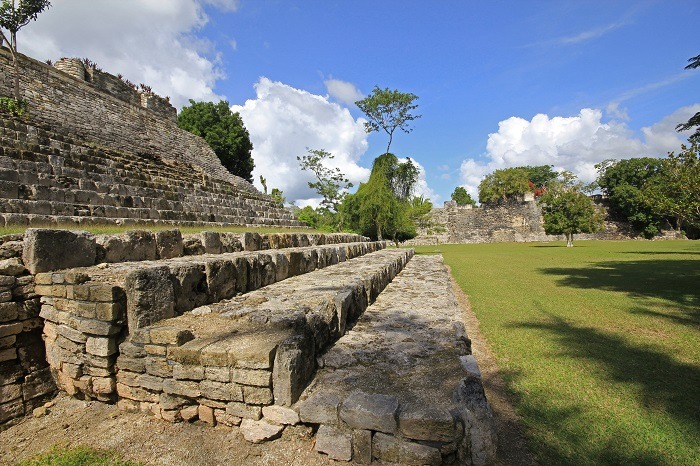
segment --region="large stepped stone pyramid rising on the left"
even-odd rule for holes
[[[175,109],[80,60],[20,56],[29,119],[0,114],[0,223],[300,226],[230,174]],[[0,48],[0,95],[11,95]]]

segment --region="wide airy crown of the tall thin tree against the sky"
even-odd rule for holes
[[[418,108],[418,105],[414,104],[416,99],[418,96],[415,94],[374,86],[369,96],[355,102],[355,105],[367,116],[365,130],[371,133],[381,129],[389,136],[386,153],[389,153],[391,148],[394,131],[398,128],[404,133],[410,133],[412,128],[409,123],[421,117],[412,113]]]

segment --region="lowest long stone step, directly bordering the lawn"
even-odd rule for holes
[[[319,357],[295,404],[335,460],[493,464],[492,415],[439,256],[417,256]]]

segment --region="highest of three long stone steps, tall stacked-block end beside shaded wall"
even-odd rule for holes
[[[127,334],[384,246],[383,242],[317,245],[37,273],[34,292],[41,296],[47,360],[59,387],[69,394],[111,400],[117,348]],[[34,261],[25,263],[31,270]]]

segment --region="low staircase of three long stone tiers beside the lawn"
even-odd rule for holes
[[[208,236],[202,248],[217,243]],[[310,425],[333,460],[490,464],[491,412],[441,259],[291,236],[66,270],[25,264],[58,387],[170,422],[237,426],[256,443]],[[50,249],[37,243],[25,239],[26,262]]]

